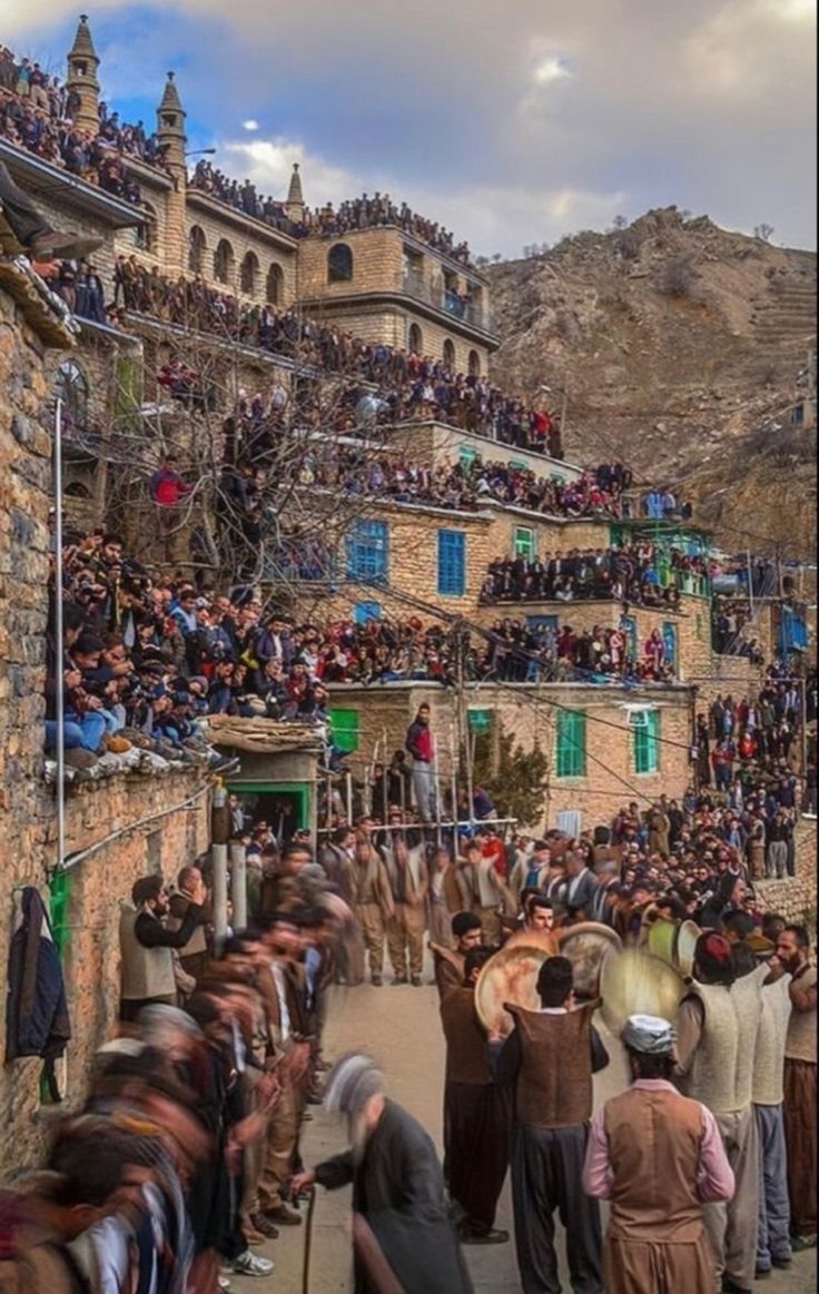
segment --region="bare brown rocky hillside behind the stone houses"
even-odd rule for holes
[[[670,207],[489,273],[494,377],[558,411],[565,392],[567,459],[672,484],[726,549],[809,558],[816,430],[792,419],[815,393],[813,252]]]

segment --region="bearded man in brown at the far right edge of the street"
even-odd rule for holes
[[[785,1039],[784,1123],[793,1249],[816,1244],[816,968],[803,925],[785,925],[776,956],[791,980]]]

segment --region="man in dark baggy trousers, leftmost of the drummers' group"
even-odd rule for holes
[[[486,1034],[475,1009],[475,983],[492,955],[492,949],[467,952],[463,987],[441,1000],[446,1181],[464,1212],[458,1228],[464,1245],[508,1240],[508,1232],[496,1229],[494,1215],[508,1168],[512,1090],[492,1077]]]

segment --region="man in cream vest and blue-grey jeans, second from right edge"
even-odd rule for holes
[[[772,1267],[789,1267],[792,1256],[788,1161],[781,1113],[791,976],[784,973],[776,956],[770,959],[766,969],[753,1061],[753,1110],[759,1139],[757,1276],[767,1276]]]

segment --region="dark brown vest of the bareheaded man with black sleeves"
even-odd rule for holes
[[[596,1003],[564,1016],[505,1003],[520,1036],[518,1118],[536,1128],[563,1128],[591,1118],[591,1016]]]

